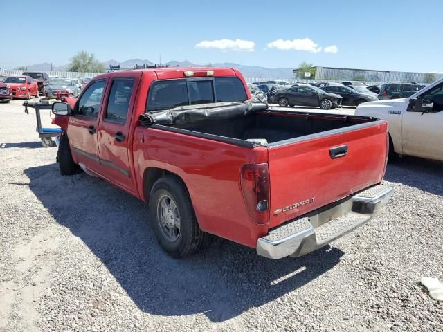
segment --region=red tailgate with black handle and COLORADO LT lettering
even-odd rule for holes
[[[269,145],[269,228],[380,183],[387,129],[375,121]]]

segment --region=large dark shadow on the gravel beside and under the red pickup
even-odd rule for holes
[[[55,164],[31,167],[25,174],[55,220],[82,239],[147,313],[204,313],[223,322],[308,284],[343,256],[325,247],[273,261],[213,237],[199,255],[172,259],[156,244],[145,205],[129,194],[85,174],[60,176]]]

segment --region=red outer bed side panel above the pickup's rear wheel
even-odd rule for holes
[[[251,247],[266,234],[268,225],[251,221],[239,183],[240,169],[266,160],[266,147],[239,147],[147,127],[137,127],[134,133],[138,188],[143,190],[142,176],[149,167],[177,174],[188,187],[202,230]]]

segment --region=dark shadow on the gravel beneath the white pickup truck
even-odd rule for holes
[[[443,163],[404,157],[386,168],[385,179],[443,196]]]

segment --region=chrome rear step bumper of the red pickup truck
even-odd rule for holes
[[[285,223],[258,239],[257,254],[271,259],[306,255],[367,223],[391,194],[391,187],[376,185],[329,210]]]

